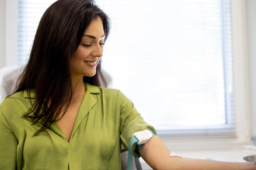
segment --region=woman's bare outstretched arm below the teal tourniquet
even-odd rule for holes
[[[169,156],[170,151],[158,136],[153,136],[140,150],[141,157],[154,170],[256,170],[253,162],[223,162]]]

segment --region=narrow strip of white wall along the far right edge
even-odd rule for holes
[[[256,135],[256,0],[247,0],[250,91],[253,135]]]

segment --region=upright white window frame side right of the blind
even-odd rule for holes
[[[252,135],[247,1],[232,0],[233,84],[238,141]]]

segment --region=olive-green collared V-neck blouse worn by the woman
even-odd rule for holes
[[[56,122],[33,137],[43,122],[22,117],[30,106],[26,91],[0,105],[0,170],[119,170],[121,143],[128,149],[133,133],[156,133],[120,91],[88,83],[70,142]]]

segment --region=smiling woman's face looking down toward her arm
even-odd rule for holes
[[[84,32],[79,47],[71,60],[72,76],[92,77],[96,66],[103,55],[104,29],[102,20],[97,17]]]

